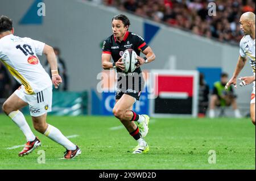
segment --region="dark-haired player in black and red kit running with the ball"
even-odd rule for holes
[[[118,83],[115,94],[115,106],[113,114],[129,131],[130,135],[138,141],[138,146],[134,148],[133,153],[146,153],[149,150],[147,142],[144,140],[148,133],[149,117],[147,115],[138,115],[132,111],[133,104],[139,100],[141,91],[144,87],[141,65],[155,60],[155,54],[148,47],[144,39],[129,32],[130,20],[125,15],[117,15],[112,19],[113,35],[104,41],[102,47],[102,68],[117,69]],[[138,55],[137,69],[133,73],[123,73],[123,52],[131,48]],[[144,58],[139,57],[140,53],[145,54]],[[110,62],[111,57],[114,62]],[[137,122],[137,124],[134,123]]]

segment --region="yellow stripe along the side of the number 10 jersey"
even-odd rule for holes
[[[5,61],[2,60],[2,62],[6,66],[6,68],[10,71],[10,73],[14,77],[19,79],[19,81],[25,87],[25,90],[26,90],[27,94],[30,94],[30,95],[35,94],[35,92],[33,91],[32,87],[30,86],[30,84],[26,81],[26,79],[17,70],[15,70],[13,67],[11,67],[9,64],[7,64]]]

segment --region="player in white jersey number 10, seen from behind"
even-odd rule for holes
[[[9,69],[20,83],[20,88],[3,104],[3,111],[21,129],[27,144],[19,156],[31,153],[41,145],[38,137],[32,133],[22,112],[25,106],[30,107],[30,114],[36,131],[46,135],[64,146],[64,158],[71,159],[81,154],[81,150],[68,140],[59,129],[46,123],[47,112],[52,107],[52,83],[57,89],[61,77],[57,71],[57,60],[53,48],[40,41],[14,36],[13,22],[6,16],[0,17],[0,61]],[[51,65],[52,78],[46,73],[38,55],[46,54]]]

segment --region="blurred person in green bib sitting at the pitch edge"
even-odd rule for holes
[[[213,87],[212,96],[210,97],[210,111],[209,117],[215,117],[215,107],[221,107],[222,111],[225,107],[232,105],[235,116],[237,118],[242,117],[240,111],[237,108],[236,95],[234,95],[233,89],[230,86],[228,90],[225,90],[225,85],[228,82],[228,74],[221,74],[221,81],[215,82]]]

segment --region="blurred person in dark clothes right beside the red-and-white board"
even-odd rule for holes
[[[204,74],[200,73],[199,79],[199,117],[204,117],[209,105],[209,86],[204,80]]]

